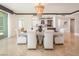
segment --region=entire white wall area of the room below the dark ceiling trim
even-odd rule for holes
[[[65,20],[65,21],[67,21],[67,24],[66,24],[66,32],[70,32],[70,18],[75,18],[76,20],[75,20],[75,33],[76,34],[79,34],[79,13],[76,13],[76,14],[73,14],[73,15],[68,15],[68,16],[56,16],[56,15],[49,15],[50,17],[55,17],[55,22],[56,22],[56,24],[55,24],[55,26],[56,27],[58,27],[58,19],[60,19],[61,20],[61,22],[60,22],[60,25],[62,25],[63,24],[63,20]],[[47,17],[47,15],[45,16],[45,17]],[[9,14],[9,30],[8,30],[8,34],[9,34],[9,36],[14,36],[15,34],[16,34],[16,29],[18,28],[17,27],[17,21],[18,20],[21,20],[21,19],[23,19],[24,20],[24,28],[26,29],[26,30],[29,30],[29,28],[30,28],[30,26],[32,26],[32,18],[33,18],[33,16],[32,15],[12,15],[12,14]],[[60,26],[60,28],[61,28],[62,26]]]

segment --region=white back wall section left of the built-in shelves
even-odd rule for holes
[[[18,20],[23,20],[24,21],[24,28],[26,30],[29,30],[30,26],[32,25],[32,15],[17,15],[16,16],[16,22],[18,22]],[[16,24],[18,25],[18,24]]]

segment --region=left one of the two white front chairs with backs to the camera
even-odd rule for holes
[[[27,32],[27,48],[28,49],[36,49],[37,39],[36,39],[36,31],[28,31]]]

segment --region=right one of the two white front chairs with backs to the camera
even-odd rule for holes
[[[44,32],[44,49],[53,49],[53,30]]]

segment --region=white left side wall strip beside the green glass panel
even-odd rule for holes
[[[8,37],[16,34],[16,15],[8,13]]]

